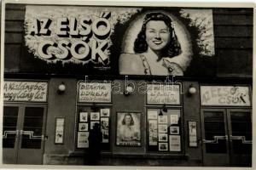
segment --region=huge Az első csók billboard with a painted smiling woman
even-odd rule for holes
[[[24,71],[185,76],[215,55],[212,9],[27,5],[24,28]]]

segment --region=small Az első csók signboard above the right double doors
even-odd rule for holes
[[[250,106],[249,87],[201,86],[201,105]]]

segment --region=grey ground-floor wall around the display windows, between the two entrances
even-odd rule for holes
[[[135,87],[139,87],[142,81],[134,81]],[[64,82],[67,90],[64,94],[57,94],[58,85]],[[125,89],[125,81],[115,80],[120,82],[121,92]],[[116,84],[113,82],[113,84]],[[76,146],[74,134],[75,114],[76,114],[76,79],[52,78],[49,81],[49,105],[46,125],[46,135],[49,137],[45,141],[44,146],[44,164],[84,164],[83,152],[75,151]],[[110,124],[110,153],[106,152],[102,155],[102,165],[166,165],[166,166],[201,166],[201,128],[200,128],[200,102],[199,93],[189,95],[189,86],[193,86],[199,90],[198,82],[183,82],[183,139],[182,147],[184,154],[164,155],[160,153],[152,153],[147,151],[147,117],[146,117],[146,94],[139,94],[138,88],[135,88],[134,94],[125,96],[124,94],[113,94],[113,106],[111,111]],[[141,132],[142,146],[141,147],[124,147],[116,145],[116,120],[118,111],[138,111],[141,115]],[[55,144],[55,118],[65,117],[65,137],[64,144]],[[190,148],[188,144],[188,121],[197,122],[197,137],[198,147]],[[141,161],[137,161],[140,159]],[[86,161],[85,161],[86,162]]]

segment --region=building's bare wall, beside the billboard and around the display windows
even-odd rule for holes
[[[4,72],[5,77],[20,72],[20,56],[24,45],[23,22],[25,5],[8,4],[5,20]],[[213,24],[215,39],[215,56],[217,62],[217,77],[252,77],[253,60],[253,9],[252,8],[213,8]],[[18,52],[18,53],[17,53]],[[202,65],[204,63],[201,63]],[[246,65],[246,66],[245,66]],[[206,63],[207,66],[207,63]],[[26,74],[26,73],[25,73]],[[40,79],[44,74],[39,74]],[[48,139],[44,145],[44,164],[84,163],[84,153],[75,152],[75,114],[77,79],[75,77],[49,78],[49,99],[46,124]],[[57,94],[58,85],[64,82],[66,91]],[[124,81],[122,88],[124,89]],[[135,81],[138,83],[139,81]],[[189,96],[189,86],[197,89],[197,93]],[[142,136],[142,147],[127,148],[115,144],[116,112],[141,111],[142,131],[147,129],[146,98],[143,94],[113,94],[111,116],[111,153],[103,153],[103,165],[166,165],[166,166],[201,166],[201,128],[200,128],[200,96],[199,82],[195,79],[183,81],[183,150],[184,154],[177,156],[160,156],[148,154],[146,149],[146,133]],[[64,144],[55,144],[55,118],[65,117]],[[198,147],[189,148],[188,121],[197,122]],[[129,156],[130,155],[130,156]],[[140,159],[140,161],[137,161]]]

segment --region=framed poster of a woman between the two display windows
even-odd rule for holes
[[[117,113],[116,144],[123,146],[141,146],[141,113]]]

